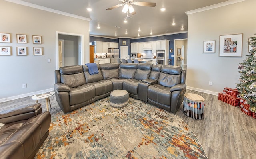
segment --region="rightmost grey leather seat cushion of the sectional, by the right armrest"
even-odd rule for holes
[[[154,84],[154,85],[148,86],[148,99],[170,106],[171,105],[170,87],[165,87],[160,84]]]

